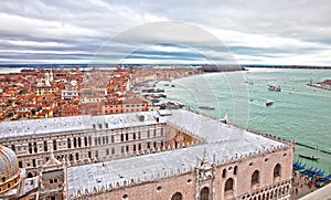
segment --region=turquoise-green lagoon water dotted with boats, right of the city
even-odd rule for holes
[[[186,107],[206,115],[223,117],[258,131],[331,151],[331,91],[307,85],[331,78],[329,70],[248,69],[248,72],[211,73],[172,81],[175,87],[164,86],[166,101],[179,101]],[[252,81],[253,84],[245,83]],[[268,91],[268,84],[280,85],[281,92]],[[266,101],[274,105],[266,106]],[[215,107],[200,109],[200,105]],[[298,154],[320,157],[305,160]],[[331,155],[296,146],[295,161],[306,162],[331,172]]]

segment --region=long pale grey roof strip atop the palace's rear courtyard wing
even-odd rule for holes
[[[143,115],[143,122],[139,120],[139,116],[141,115]],[[77,130],[84,131],[93,129],[93,125],[95,125],[96,129],[115,129],[132,126],[142,126],[149,124],[157,124],[157,117],[159,116],[160,115],[158,114],[158,112],[139,112],[102,116],[79,115],[70,117],[2,122],[0,123],[0,139],[53,133]],[[108,128],[106,128],[106,123],[108,124]],[[102,128],[99,128],[99,124],[102,124]]]

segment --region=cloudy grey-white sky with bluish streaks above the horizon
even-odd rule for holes
[[[2,0],[0,63],[331,65],[328,0]]]

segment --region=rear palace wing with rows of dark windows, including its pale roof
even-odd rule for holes
[[[71,166],[143,154],[166,145],[166,123],[156,113],[74,116],[3,122],[0,144],[18,156],[28,177],[39,175],[51,152]]]

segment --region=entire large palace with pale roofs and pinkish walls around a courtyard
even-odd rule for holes
[[[292,143],[183,109],[0,128],[41,199],[290,199]]]

